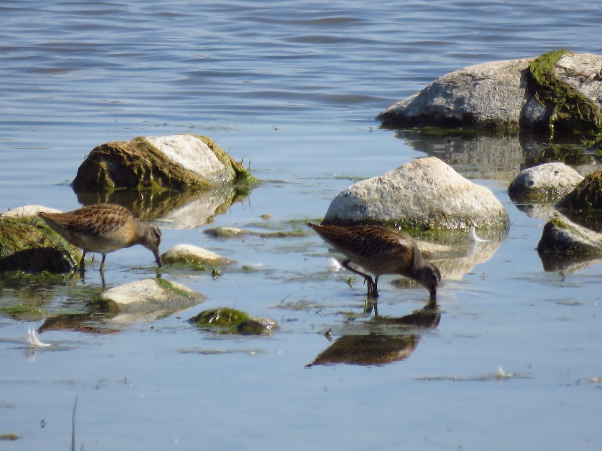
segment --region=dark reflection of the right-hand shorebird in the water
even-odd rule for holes
[[[401,318],[374,316],[362,322],[350,334],[343,334],[308,364],[346,363],[352,365],[384,365],[402,361],[412,355],[420,342],[420,331],[434,329],[441,320],[435,302]]]

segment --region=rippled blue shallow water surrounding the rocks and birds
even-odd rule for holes
[[[600,449],[601,266],[544,271],[544,222],[505,192],[531,151],[511,139],[437,142],[373,118],[470,64],[599,54],[601,2],[28,1],[4,2],[0,17],[0,210],[79,206],[69,183],[85,155],[138,135],[208,135],[264,180],[213,224],[159,222],[162,251],[186,242],[237,260],[215,280],[164,274],[203,304],[119,333],[47,331],[52,346],[37,350],[29,322],[0,316],[0,434],[20,436],[2,449],[68,449],[76,398],[75,447],[86,450]],[[331,345],[329,328],[337,340],[373,327],[365,287],[329,272],[309,231],[220,241],[202,230],[320,219],[350,183],[424,155],[488,186],[509,233],[444,281],[440,322],[414,331],[405,360],[306,368]],[[152,265],[140,247],[110,254],[107,284],[153,277]],[[0,304],[82,305],[102,290],[96,269],[60,289],[4,286]],[[380,284],[380,315],[424,306],[425,290],[393,280]],[[223,337],[184,321],[221,305],[280,329]]]

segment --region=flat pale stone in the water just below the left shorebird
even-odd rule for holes
[[[111,314],[160,318],[199,304],[205,296],[163,278],[147,278],[108,289],[92,299],[94,308]]]

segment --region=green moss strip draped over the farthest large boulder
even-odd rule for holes
[[[558,60],[568,53],[556,50],[533,60],[529,64],[529,88],[535,99],[550,109],[551,135],[555,130],[599,133],[602,131],[600,108],[553,75]]]

